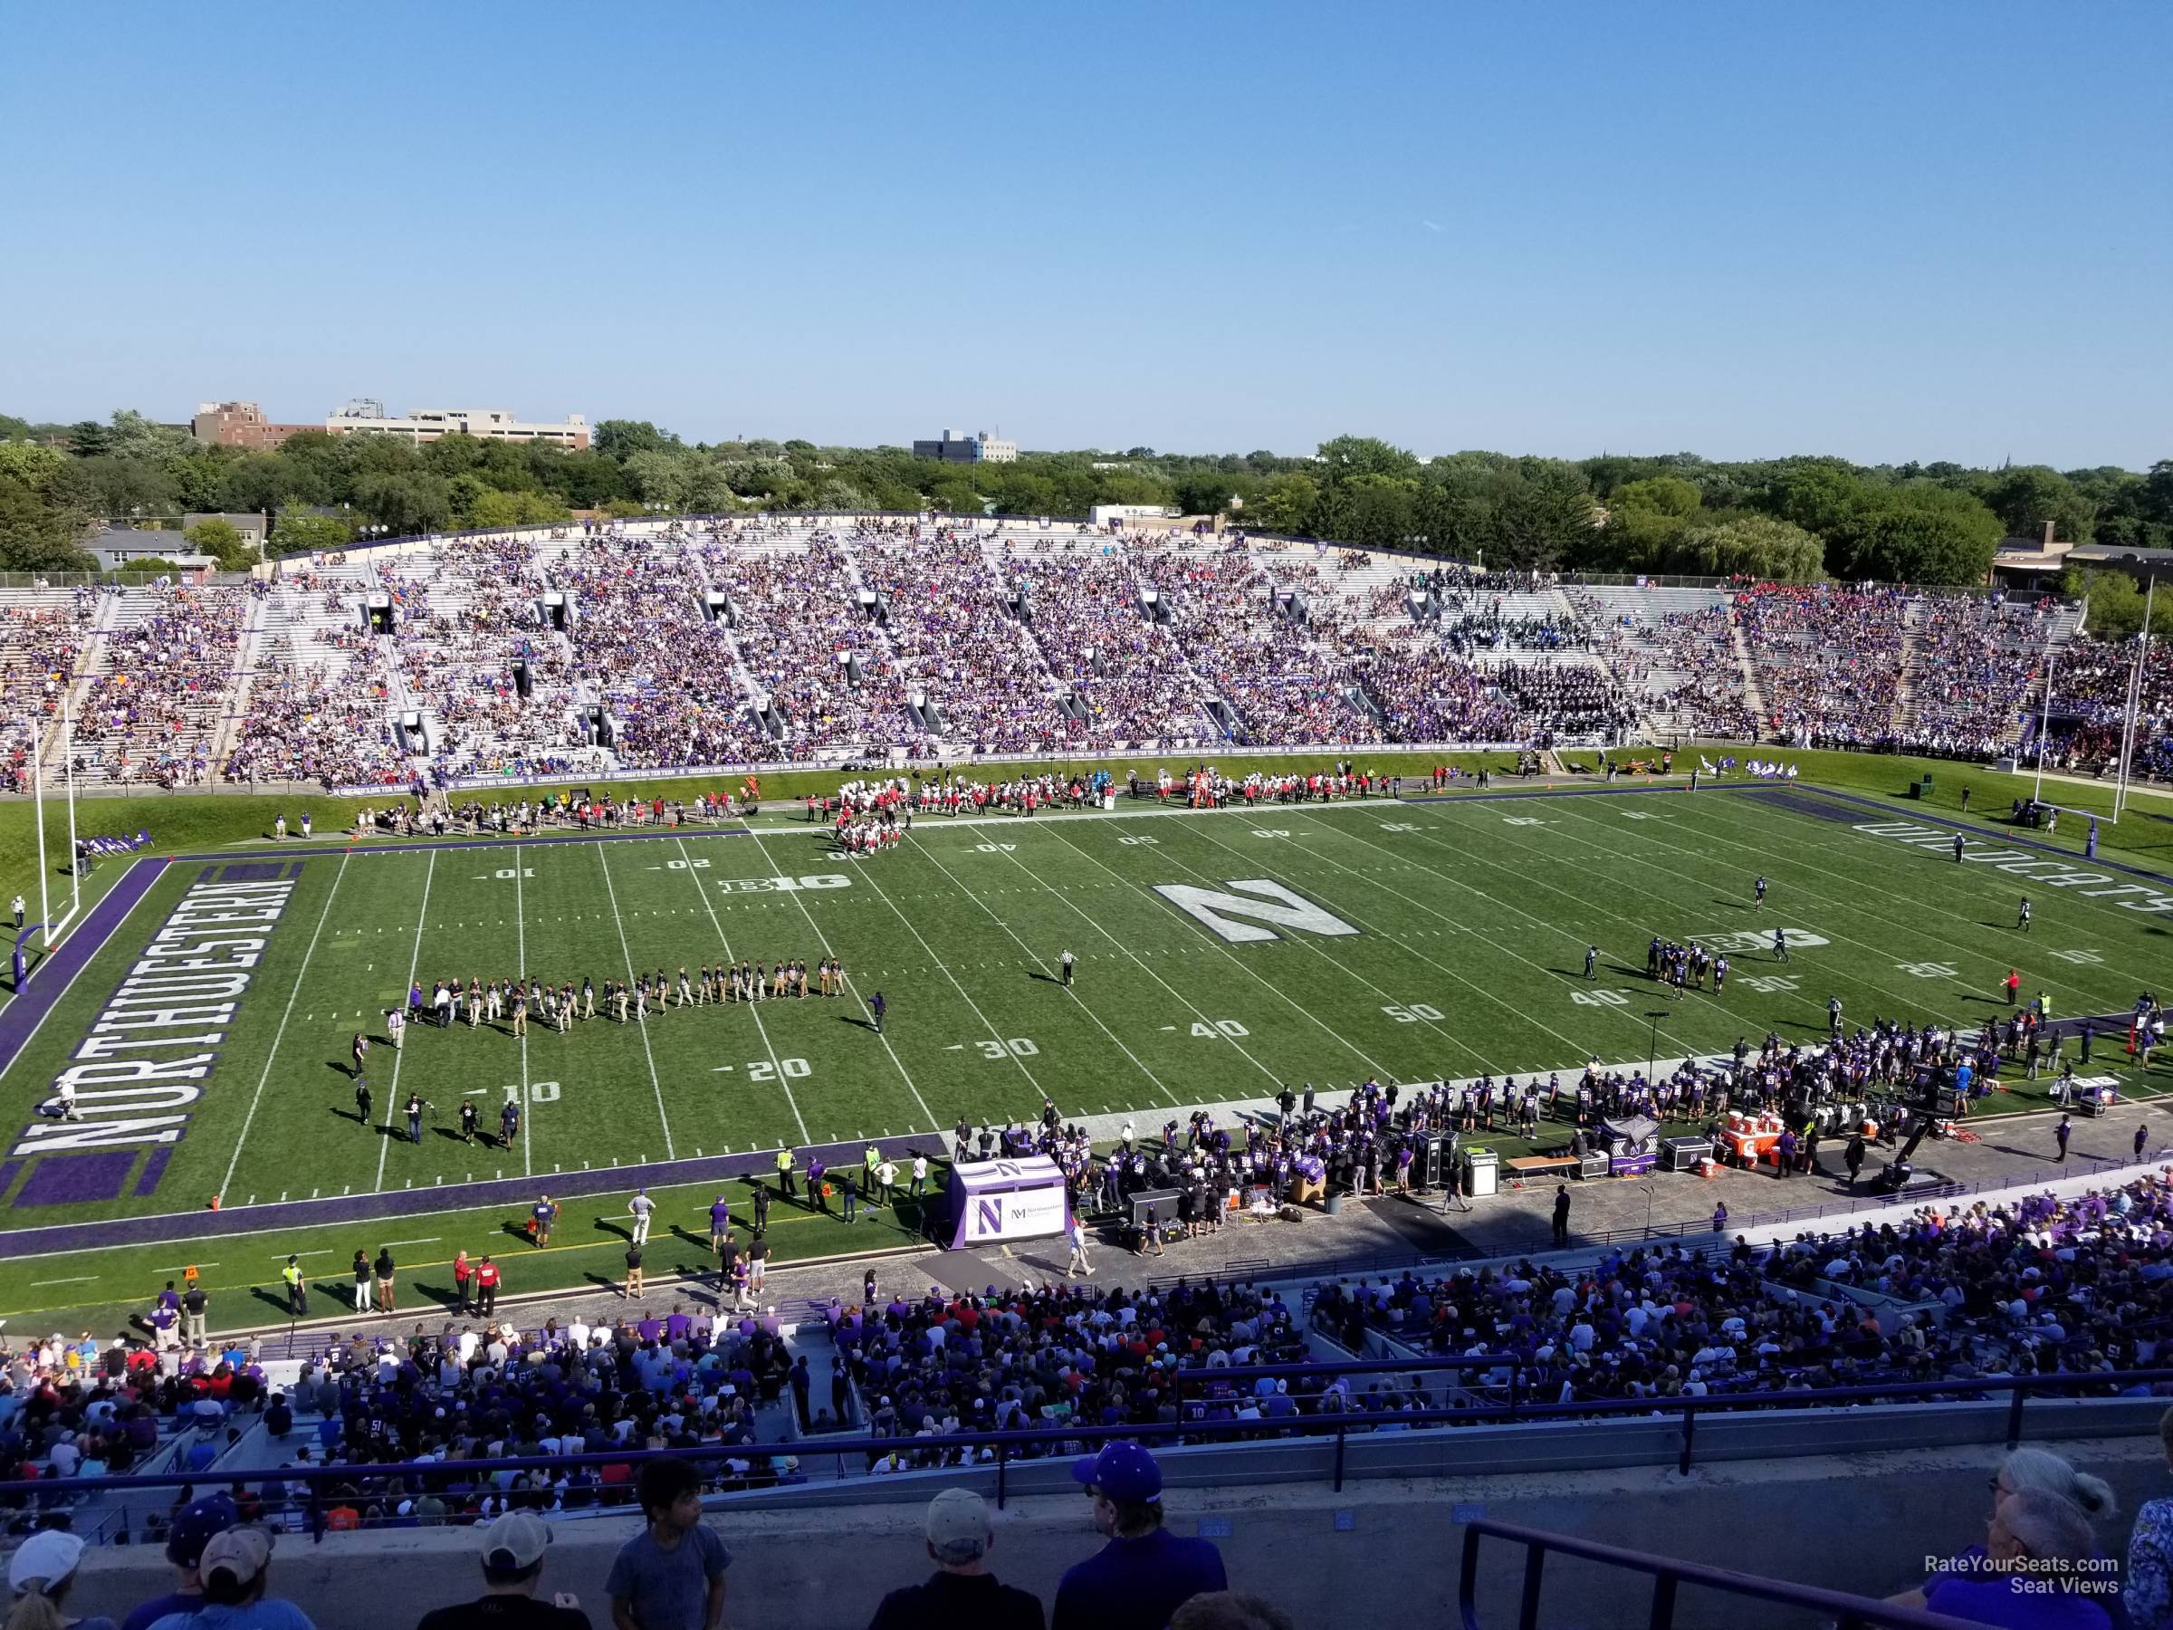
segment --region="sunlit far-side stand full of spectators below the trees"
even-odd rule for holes
[[[2086,606],[1586,585],[1243,532],[761,515],[4,589],[0,774],[487,785],[617,769],[1706,737],[2106,772],[2132,645]],[[2051,706],[2045,674],[2053,674]],[[2153,648],[2140,774],[2173,774]]]

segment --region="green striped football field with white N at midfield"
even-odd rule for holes
[[[413,1193],[415,1213],[445,1213],[465,1182],[550,1189],[558,1174],[858,1143],[960,1115],[1030,1119],[1043,1098],[1065,1117],[1132,1113],[1154,1132],[1180,1106],[1306,1080],[1567,1078],[1591,1056],[1719,1052],[1769,1028],[1817,1039],[1832,995],[1851,1026],[1975,1024],[2004,1011],[2008,967],[2056,1017],[2119,1013],[2164,985],[2164,885],[1995,835],[1971,839],[1988,858],[1956,865],[1906,811],[1808,787],[1249,813],[1119,800],[1115,815],[924,817],[869,858],[776,824],[282,852],[285,904],[156,1180],[117,1200],[17,1195],[0,1228],[200,1211],[215,1193],[228,1208]],[[169,865],[46,1017],[4,1076],[26,1124],[152,935],[219,874],[217,861]],[[1771,882],[1762,911],[1758,874]],[[2014,928],[2023,893],[2027,935]],[[1771,954],[1775,928],[1793,941],[1786,963]],[[1645,980],[1651,935],[1725,948],[1725,995],[1665,1000]],[[1593,980],[1588,943],[1602,952]],[[1071,989],[1054,978],[1065,950]],[[824,956],[843,958],[847,998],[674,1006],[626,1026],[600,1002],[571,1032],[535,1021],[526,1039],[463,1013],[450,1030],[411,1028],[400,1052],[382,1039],[411,980],[602,987],[635,969]],[[878,989],[880,1035],[865,1006]],[[376,1039],[367,1126],[350,1080],[356,1030]],[[398,1113],[411,1091],[430,1104],[419,1143]],[[459,1137],[463,1102],[495,1130],[506,1098],[524,1104],[511,1145]],[[330,1232],[369,1243],[363,1232],[411,1230]],[[252,1256],[269,1265],[287,1241],[261,1245]],[[163,1267],[189,1252],[150,1254]],[[120,1300],[96,1258],[43,1269],[9,1263],[0,1300],[13,1306],[0,1313]]]

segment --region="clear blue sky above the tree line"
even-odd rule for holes
[[[0,9],[0,411],[2173,456],[2173,7]]]

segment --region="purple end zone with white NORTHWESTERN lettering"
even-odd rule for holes
[[[300,874],[298,863],[202,872],[7,1152],[0,1187],[13,1187],[28,1163],[11,1204],[141,1198],[159,1187]],[[78,1119],[59,1119],[63,1087],[74,1089]]]

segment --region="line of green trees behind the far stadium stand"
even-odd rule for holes
[[[363,528],[528,526],[574,511],[1084,515],[1095,504],[1543,572],[1975,582],[2001,537],[2040,537],[2047,524],[2062,539],[2173,548],[2173,461],[2136,474],[1686,452],[1419,459],[1376,437],[1336,437],[1312,456],[1130,448],[947,465],[908,448],[687,443],[643,419],[606,419],[593,441],[569,452],[304,430],[243,452],[126,409],[70,426],[0,415],[0,569],[89,569],[83,546],[100,522],[178,524],[191,511],[269,513],[274,554],[339,548]],[[246,565],[224,524],[183,546]]]

